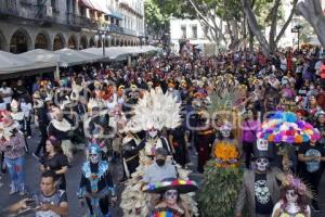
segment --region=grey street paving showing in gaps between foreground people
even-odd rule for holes
[[[30,149],[34,150],[36,149],[36,142],[37,142],[37,137],[34,137],[32,139],[28,140]],[[194,154],[191,155],[191,158],[193,162],[196,161],[196,156]],[[69,168],[69,171],[66,176],[67,178],[67,195],[68,195],[68,201],[69,201],[69,217],[82,217],[86,215],[86,209],[82,208],[79,203],[78,199],[76,196],[76,192],[78,190],[78,184],[80,181],[80,167],[81,164],[84,159],[84,154],[83,152],[79,151],[75,155],[75,159],[73,162],[72,168]],[[112,169],[114,173],[114,179],[119,180],[121,178],[121,165],[119,163],[112,164]],[[35,192],[38,189],[39,184],[39,177],[40,177],[40,169],[39,169],[39,164],[38,162],[31,156],[27,155],[26,157],[26,180],[27,180],[27,186],[29,189],[29,192]],[[196,181],[200,182],[202,181],[202,175],[199,174],[192,174],[191,175],[192,179],[195,179]],[[9,176],[4,175],[1,179],[1,182],[3,182],[3,186],[0,188],[1,190],[1,200],[0,200],[0,207],[6,207],[10,204],[23,199],[18,194],[15,195],[9,195]],[[122,186],[118,186],[119,192],[122,189]],[[325,179],[323,176],[322,183],[321,183],[321,200],[320,200],[320,206],[322,208],[322,213],[325,213]],[[120,217],[121,210],[118,207],[118,205],[114,209],[114,216],[115,217]],[[322,217],[324,215],[318,214],[312,215],[313,217]],[[1,216],[2,217],[2,216]]]

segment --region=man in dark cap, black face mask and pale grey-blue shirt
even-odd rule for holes
[[[143,176],[145,183],[155,183],[165,178],[178,177],[176,166],[170,162],[166,162],[167,155],[168,152],[164,148],[156,150],[155,162],[147,167]]]

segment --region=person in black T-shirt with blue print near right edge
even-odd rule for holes
[[[318,196],[318,186],[322,177],[322,166],[325,162],[325,150],[314,139],[311,139],[309,143],[299,146],[298,161],[303,165],[300,169],[300,177],[311,187],[315,196]],[[314,212],[321,212],[316,200],[312,201],[312,207]]]

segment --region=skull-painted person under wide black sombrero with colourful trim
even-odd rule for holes
[[[146,184],[142,190],[160,194],[160,202],[151,212],[150,217],[191,217],[188,207],[180,194],[196,191],[197,184],[194,181],[167,178],[161,182]]]

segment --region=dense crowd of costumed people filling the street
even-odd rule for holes
[[[325,52],[318,48],[272,55],[140,56],[134,66],[69,68],[60,80],[37,77],[30,87],[23,79],[2,81],[1,168],[10,176],[10,194],[28,193],[26,154],[42,173],[40,191],[5,212],[66,216],[65,176],[77,151],[84,151],[78,199],[90,216],[112,215],[117,197],[123,216],[197,216],[200,207],[188,192],[198,187],[188,175],[204,174],[211,159],[224,169],[245,167],[235,216],[242,216],[245,203],[250,216],[311,216],[311,207],[320,212],[324,111]],[[309,123],[320,137],[295,138],[290,143],[299,145],[288,145],[292,149],[285,155],[271,153],[270,146],[284,140],[261,140],[259,131],[277,112]],[[232,146],[227,156],[219,152],[224,146]],[[112,161],[123,166],[121,195]],[[306,199],[310,192],[311,206]]]

